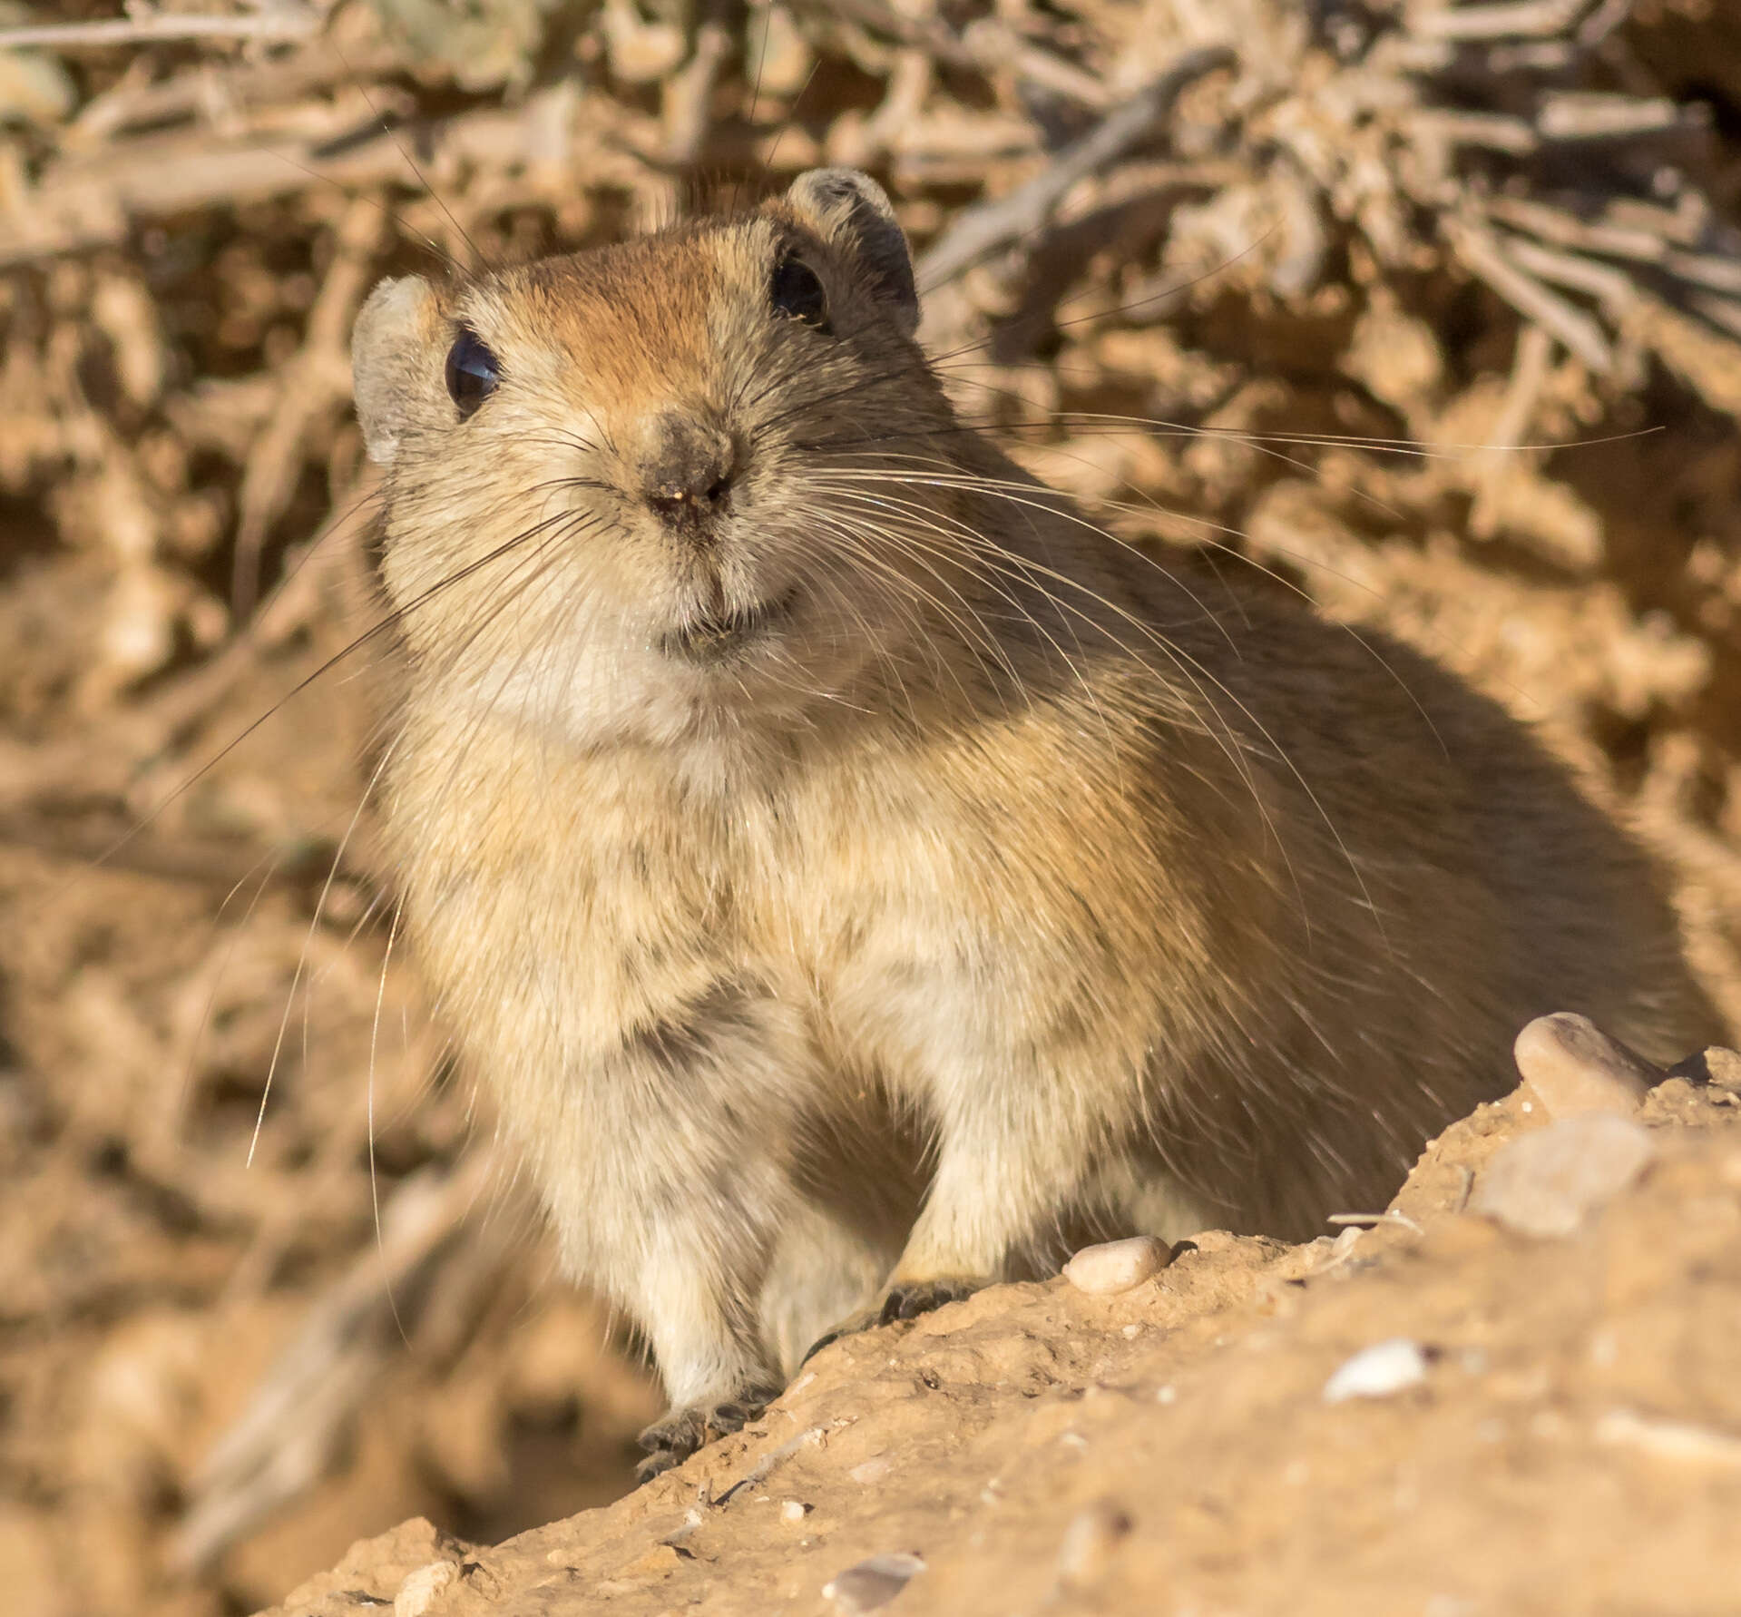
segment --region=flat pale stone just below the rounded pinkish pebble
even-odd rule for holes
[[[1644,1171],[1652,1149],[1630,1117],[1563,1117],[1496,1151],[1469,1211],[1523,1236],[1569,1236]]]

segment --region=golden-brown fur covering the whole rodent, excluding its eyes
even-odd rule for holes
[[[827,329],[770,306],[794,251]],[[648,1333],[655,1467],[865,1304],[1382,1206],[1541,1011],[1715,1030],[1515,722],[1092,529],[959,428],[904,265],[836,172],[359,322],[406,924]]]

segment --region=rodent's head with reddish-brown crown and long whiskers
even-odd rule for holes
[[[959,566],[930,554],[952,493],[877,482],[947,472],[959,430],[916,325],[900,226],[848,169],[736,218],[378,285],[357,413],[414,668],[576,740],[669,740],[898,661],[914,592]]]

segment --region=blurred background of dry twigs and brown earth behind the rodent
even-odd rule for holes
[[[395,957],[348,329],[822,162],[970,419],[1539,722],[1741,1020],[1727,0],[0,0],[7,1610],[627,1488],[656,1389]]]

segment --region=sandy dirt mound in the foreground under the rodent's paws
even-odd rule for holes
[[[818,1354],[608,1509],[496,1549],[411,1521],[273,1614],[1732,1612],[1731,1070],[1650,1097],[1644,1173],[1563,1239],[1464,1210],[1543,1128],[1523,1086],[1374,1227],[996,1286]]]

